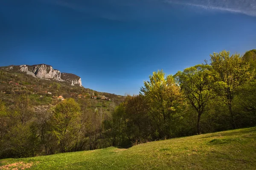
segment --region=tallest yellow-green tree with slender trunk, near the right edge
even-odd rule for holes
[[[236,90],[248,80],[254,77],[250,71],[250,64],[244,62],[240,54],[230,56],[229,51],[210,54],[213,76],[215,80],[215,91],[224,100],[230,113],[230,123],[236,128],[235,113],[233,111],[233,98]]]

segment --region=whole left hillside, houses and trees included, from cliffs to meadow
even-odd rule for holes
[[[0,69],[0,158],[105,147],[99,144],[102,122],[111,119],[115,106],[124,99],[69,82]],[[70,115],[60,114],[64,112]],[[62,117],[54,117],[58,114]],[[67,127],[58,127],[58,121]]]

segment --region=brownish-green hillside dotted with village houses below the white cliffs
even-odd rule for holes
[[[13,97],[29,94],[35,105],[48,105],[56,99],[93,99],[112,101],[116,104],[123,101],[124,96],[93,91],[79,85],[70,85],[55,79],[39,79],[21,71],[0,69],[0,94],[1,99],[12,105]]]

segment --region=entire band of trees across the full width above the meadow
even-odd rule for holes
[[[203,61],[202,61],[203,62]],[[0,159],[51,155],[256,126],[256,50],[210,54],[202,64],[153,72],[140,94],[112,104],[72,96],[35,111],[26,89],[0,100]],[[114,103],[114,102],[109,102]]]

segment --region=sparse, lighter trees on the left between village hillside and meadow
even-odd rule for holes
[[[103,122],[111,119],[108,110],[114,107],[114,102],[103,101],[95,107],[92,99],[68,98],[35,109],[28,94],[19,96],[9,107],[0,101],[0,159],[112,146],[105,139]]]

